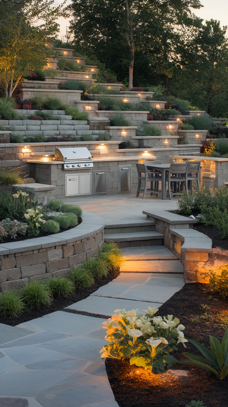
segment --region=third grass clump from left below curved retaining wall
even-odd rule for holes
[[[53,297],[59,297],[60,295],[68,297],[75,289],[74,283],[69,278],[64,277],[48,278],[44,285]]]

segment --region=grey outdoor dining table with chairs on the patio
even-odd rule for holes
[[[193,186],[200,188],[201,161],[185,161],[182,163],[162,164],[157,161],[143,161],[136,163],[138,173],[138,187],[136,197],[145,199],[147,192],[150,195],[161,195],[162,199],[178,196],[185,190],[187,195]]]

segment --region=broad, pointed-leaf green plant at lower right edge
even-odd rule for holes
[[[197,366],[198,368],[208,370],[215,374],[215,376],[223,380],[228,374],[228,329],[226,330],[221,344],[218,339],[209,335],[211,348],[208,350],[205,346],[201,345],[193,339],[188,339],[204,357],[195,356],[192,353],[184,352],[189,360],[182,360],[181,363],[187,365]]]

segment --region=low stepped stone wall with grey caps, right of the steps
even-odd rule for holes
[[[163,244],[184,266],[185,282],[202,282],[201,272],[207,271],[213,258],[212,240],[193,229],[194,219],[165,210],[145,212],[155,222],[156,232],[164,234]],[[204,281],[205,282],[205,281]]]

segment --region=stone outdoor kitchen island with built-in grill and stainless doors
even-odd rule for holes
[[[72,150],[72,151],[70,151]],[[72,160],[73,151],[83,150],[83,157]],[[117,195],[136,193],[138,176],[135,163],[142,156],[111,156],[92,158],[86,148],[56,149],[55,159],[50,161],[28,160],[35,164],[35,181],[39,184],[56,186],[52,197],[64,199],[86,195]],[[63,153],[63,160],[57,159]],[[66,160],[64,160],[66,158]],[[155,160],[150,155],[148,160]]]

